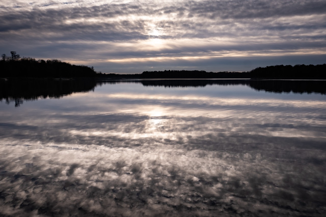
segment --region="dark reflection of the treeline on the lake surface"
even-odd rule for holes
[[[272,93],[319,93],[326,94],[324,80],[247,80],[247,79],[198,79],[198,80],[9,80],[0,81],[0,101],[15,102],[19,107],[23,101],[39,98],[60,98],[72,93],[94,91],[103,84],[141,83],[145,87],[205,87],[207,85],[246,85],[257,91]]]

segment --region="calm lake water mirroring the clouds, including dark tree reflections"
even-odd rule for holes
[[[1,81],[1,216],[325,216],[326,81]]]

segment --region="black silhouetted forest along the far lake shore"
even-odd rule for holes
[[[323,65],[274,65],[246,72],[206,72],[199,70],[144,71],[141,74],[96,72],[94,67],[72,65],[57,59],[36,60],[17,54],[2,54],[0,78],[102,78],[102,79],[326,79]]]

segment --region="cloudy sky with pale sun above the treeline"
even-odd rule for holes
[[[0,52],[103,73],[326,63],[325,0],[2,0]]]

